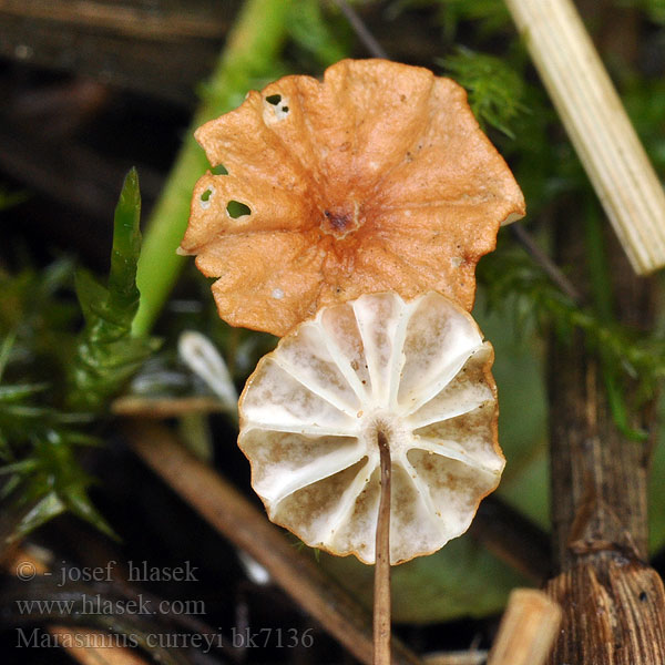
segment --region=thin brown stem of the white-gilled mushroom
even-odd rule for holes
[[[386,434],[378,430],[381,459],[381,499],[377,520],[374,665],[390,665],[390,448]]]

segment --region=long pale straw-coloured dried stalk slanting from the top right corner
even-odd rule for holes
[[[571,0],[505,0],[638,275],[665,265],[665,194]]]

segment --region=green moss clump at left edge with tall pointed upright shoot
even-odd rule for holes
[[[75,277],[85,319],[79,335],[66,297],[71,262],[41,274],[0,275],[0,500],[18,514],[12,539],[66,511],[114,535],[89,497],[95,480],[81,448],[100,443],[91,423],[158,346],[131,334],[140,299],[140,212],[132,170],[115,211],[108,284],[83,270]]]

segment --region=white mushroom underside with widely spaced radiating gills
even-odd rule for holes
[[[473,319],[434,293],[366,295],[300,325],[241,400],[238,443],[270,519],[374,563],[380,428],[392,461],[391,563],[463,533],[504,464],[491,356]]]

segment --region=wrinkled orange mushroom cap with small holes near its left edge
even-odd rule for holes
[[[180,250],[218,277],[234,326],[283,336],[324,305],[386,290],[471,309],[475,264],[524,214],[464,90],[422,68],[344,60],[323,83],[285,76],[195,135],[228,173],[196,184]]]

